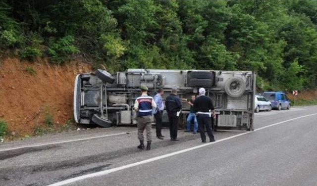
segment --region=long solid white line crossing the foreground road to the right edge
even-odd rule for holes
[[[259,129],[255,130],[255,131],[260,131],[260,130],[262,130],[262,129],[265,129],[265,128],[268,128],[268,127],[272,127],[272,126],[275,126],[275,125],[278,125],[278,124],[281,124],[281,123],[285,123],[285,122],[289,122],[289,121],[292,121],[292,120],[296,120],[296,119],[300,119],[300,118],[305,118],[305,117],[309,117],[309,116],[313,116],[313,115],[317,115],[317,113],[315,113],[315,114],[310,114],[310,115],[306,115],[306,116],[301,116],[301,117],[297,117],[297,118],[293,118],[293,119],[289,119],[289,120],[285,120],[285,121],[278,122],[278,123],[274,123],[274,124],[272,124],[272,125],[268,125],[268,126],[259,128]],[[243,136],[243,135],[246,135],[246,134],[249,134],[249,133],[253,133],[253,132],[255,132],[255,131],[246,132],[246,133],[241,133],[241,134],[238,134],[238,135],[235,135],[235,136],[232,136],[232,137],[228,137],[228,138],[224,138],[224,139],[219,139],[219,140],[217,140],[217,141],[215,141],[215,142],[201,144],[201,145],[198,145],[198,146],[194,146],[194,147],[191,147],[191,148],[186,148],[186,149],[184,149],[184,150],[179,150],[179,151],[172,152],[172,153],[169,153],[169,154],[164,154],[164,155],[161,155],[161,156],[157,156],[157,157],[150,158],[150,159],[147,159],[147,160],[139,161],[139,162],[136,162],[136,163],[131,163],[131,164],[124,165],[124,166],[121,166],[121,167],[116,167],[116,168],[113,168],[113,169],[109,169],[109,170],[105,170],[105,171],[100,171],[100,172],[97,172],[97,173],[92,173],[92,174],[88,174],[88,175],[83,175],[83,176],[71,178],[71,179],[68,179],[68,180],[64,180],[64,181],[61,181],[61,182],[57,182],[57,183],[55,183],[55,184],[51,184],[51,185],[49,185],[49,186],[63,186],[63,185],[71,184],[71,183],[74,183],[74,182],[77,182],[77,181],[80,181],[80,180],[84,180],[84,179],[87,179],[87,178],[93,178],[93,177],[98,177],[98,176],[105,176],[105,175],[107,175],[107,174],[110,174],[110,173],[113,173],[113,172],[116,172],[116,171],[120,171],[120,170],[127,169],[127,168],[130,168],[130,167],[135,167],[135,166],[138,166],[138,165],[150,163],[150,162],[157,161],[157,160],[160,160],[160,159],[163,159],[163,158],[167,158],[167,157],[170,157],[170,156],[174,156],[174,155],[177,155],[177,154],[181,154],[181,153],[184,153],[184,152],[188,152],[188,151],[191,151],[191,150],[195,150],[195,149],[198,149],[198,148],[202,148],[202,147],[204,147],[204,146],[209,146],[209,145],[212,145],[212,144],[215,144],[215,143],[218,143],[218,142],[221,142],[221,141],[225,141],[225,140],[228,140],[228,139],[237,138],[237,137],[239,137],[239,136]]]

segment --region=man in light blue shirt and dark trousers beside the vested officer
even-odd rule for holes
[[[156,121],[156,130],[157,130],[157,138],[163,139],[162,136],[162,114],[164,110],[164,104],[162,100],[162,95],[164,94],[164,90],[162,88],[159,88],[158,93],[153,97],[155,103],[157,104],[157,108],[153,109],[153,114]]]

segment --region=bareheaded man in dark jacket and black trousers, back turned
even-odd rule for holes
[[[177,97],[177,88],[172,89],[172,93],[168,95],[165,99],[165,108],[168,115],[168,120],[170,123],[169,133],[170,140],[178,141],[177,130],[178,130],[178,116],[177,112],[182,109],[182,104],[180,99]]]

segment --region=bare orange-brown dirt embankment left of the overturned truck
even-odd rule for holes
[[[53,115],[55,125],[73,117],[73,87],[77,74],[91,72],[81,62],[52,65],[21,62],[8,58],[0,62],[0,117],[10,132],[30,134],[43,125],[45,113]]]

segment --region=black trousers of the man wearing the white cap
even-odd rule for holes
[[[209,117],[208,114],[198,114],[197,122],[198,122],[198,128],[200,130],[200,137],[202,138],[202,140],[206,141],[205,127],[207,129],[207,134],[209,136],[209,139],[213,140],[214,136],[212,134],[211,117]]]

